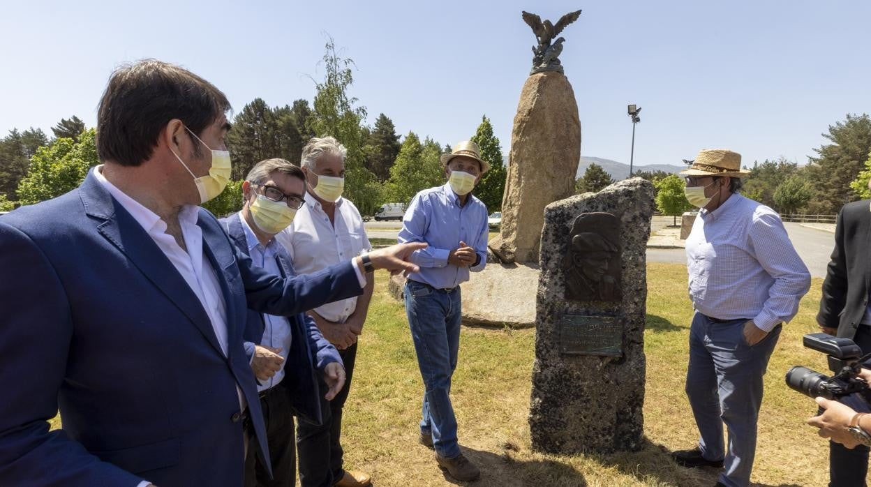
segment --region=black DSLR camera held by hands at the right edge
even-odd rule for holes
[[[794,366],[787,372],[787,385],[810,397],[822,396],[843,402],[857,411],[869,411],[871,388],[859,378],[862,363],[871,354],[862,356],[862,350],[849,338],[837,338],[825,333],[805,335],[802,342],[807,348],[828,355],[831,377],[819,372]]]

